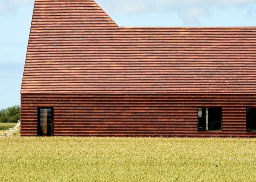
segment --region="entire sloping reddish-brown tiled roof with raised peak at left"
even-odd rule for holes
[[[256,27],[118,27],[93,0],[36,0],[21,93],[256,94]]]

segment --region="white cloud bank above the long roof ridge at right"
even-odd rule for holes
[[[241,6],[253,12],[256,0],[95,0],[106,11],[115,14],[145,12],[175,12],[184,24],[200,24],[199,17],[207,16],[211,6],[221,8]]]

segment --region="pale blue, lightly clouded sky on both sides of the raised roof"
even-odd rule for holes
[[[256,26],[256,0],[95,0],[122,27]],[[20,105],[34,0],[0,0],[0,110]]]

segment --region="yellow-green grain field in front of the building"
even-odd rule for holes
[[[0,138],[0,181],[254,181],[256,139]]]

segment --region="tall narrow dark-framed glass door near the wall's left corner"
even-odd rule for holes
[[[38,136],[52,136],[53,108],[38,108]]]

